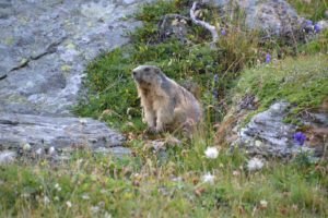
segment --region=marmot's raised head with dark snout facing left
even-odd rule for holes
[[[132,77],[140,86],[160,85],[164,74],[155,65],[139,65],[132,70]]]

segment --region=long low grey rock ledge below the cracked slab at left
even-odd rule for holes
[[[0,113],[0,146],[7,149],[19,149],[26,144],[31,145],[32,150],[68,146],[109,148],[120,146],[124,140],[106,124],[93,119],[81,122],[81,119],[71,117]]]

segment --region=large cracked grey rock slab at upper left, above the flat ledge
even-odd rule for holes
[[[128,43],[125,33],[140,23],[127,17],[141,2],[1,3],[14,13],[0,19],[0,111],[70,114],[85,65],[101,52]]]

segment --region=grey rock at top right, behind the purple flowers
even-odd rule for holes
[[[308,33],[315,32],[314,24],[300,16],[285,0],[208,0],[208,2],[221,8],[227,15],[231,15],[233,8],[241,8],[246,14],[246,25],[263,31],[268,37],[279,36],[294,43],[305,39]],[[325,22],[320,27],[325,28]]]

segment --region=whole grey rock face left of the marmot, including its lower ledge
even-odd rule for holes
[[[28,143],[119,146],[105,124],[69,118],[85,65],[128,43],[142,0],[4,0],[0,2],[0,150]]]

